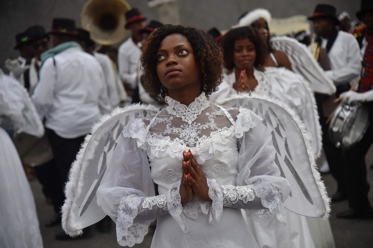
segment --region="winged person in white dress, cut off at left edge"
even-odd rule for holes
[[[34,196],[4,128],[39,137],[44,133],[26,89],[0,69],[0,247],[43,248]]]

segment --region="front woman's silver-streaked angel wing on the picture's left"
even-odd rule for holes
[[[70,168],[62,207],[62,228],[70,236],[80,235],[82,229],[103,219],[106,214],[97,204],[96,191],[106,171],[123,128],[135,118],[156,114],[158,108],[135,104],[116,108],[103,115],[92,127]]]

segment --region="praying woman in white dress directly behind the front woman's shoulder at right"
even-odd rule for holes
[[[246,91],[274,95],[293,106],[306,125],[307,122],[317,123],[313,104],[308,104],[307,108],[305,102],[309,96],[305,93],[308,91],[304,90],[304,85],[297,77],[285,77],[284,75],[288,75],[284,72],[285,69],[278,71],[276,75],[261,71],[265,70],[266,49],[254,28],[245,26],[230,30],[223,37],[222,47],[228,69],[222,83],[225,88],[219,88],[211,95],[211,99]],[[307,218],[289,210],[286,210],[286,216],[287,225],[276,230],[263,229],[252,218],[246,218],[259,247],[335,247],[328,220]]]

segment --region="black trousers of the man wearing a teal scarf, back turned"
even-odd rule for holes
[[[75,139],[65,139],[58,136],[53,130],[48,128],[46,128],[46,134],[53,150],[60,189],[63,191],[65,189],[65,184],[69,179],[71,164],[75,160],[76,153],[79,152],[85,136]],[[63,194],[62,197],[60,196],[58,201],[59,206],[62,206],[65,201],[65,195]]]

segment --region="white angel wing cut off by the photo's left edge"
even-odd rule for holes
[[[0,69],[1,70],[1,69]],[[44,125],[27,90],[15,79],[0,71],[1,126],[17,133],[41,137]]]

